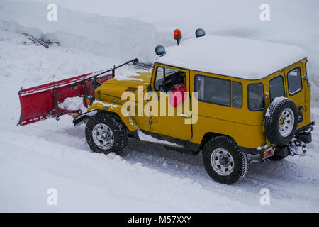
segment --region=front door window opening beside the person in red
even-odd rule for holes
[[[166,67],[157,67],[154,88],[157,92],[169,92],[174,90],[174,85],[186,82],[186,73],[172,70]]]

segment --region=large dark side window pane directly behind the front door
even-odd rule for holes
[[[230,106],[230,81],[213,77],[196,75],[195,92],[198,100],[211,104]]]

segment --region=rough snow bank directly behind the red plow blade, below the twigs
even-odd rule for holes
[[[1,29],[0,40],[1,77],[5,81],[12,79],[23,88],[108,69],[116,62],[114,58],[75,48],[28,45],[25,36]]]

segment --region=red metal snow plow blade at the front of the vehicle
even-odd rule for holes
[[[138,62],[138,59],[135,58],[118,67],[127,65],[130,62],[134,64]],[[113,67],[105,72],[84,74],[37,87],[21,89],[18,92],[21,106],[18,125],[25,126],[48,118],[56,118],[58,120],[63,114],[82,114],[81,110],[62,109],[59,104],[62,104],[67,98],[79,96],[83,97],[83,104],[87,107],[87,99],[90,99],[90,102],[94,101],[96,87],[114,77],[115,70],[118,67]]]

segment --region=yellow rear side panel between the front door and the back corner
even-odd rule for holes
[[[234,77],[225,77],[206,72],[191,71],[191,88],[194,88],[196,74],[206,77],[228,79],[242,84],[242,108],[221,106],[198,101],[198,122],[193,125],[191,142],[201,143],[206,133],[218,133],[233,138],[237,145],[245,148],[257,148],[266,143],[266,136],[262,131],[263,111],[250,111],[247,107],[247,87],[250,83],[264,82],[265,79],[249,81]],[[252,139],[253,138],[253,139]]]

